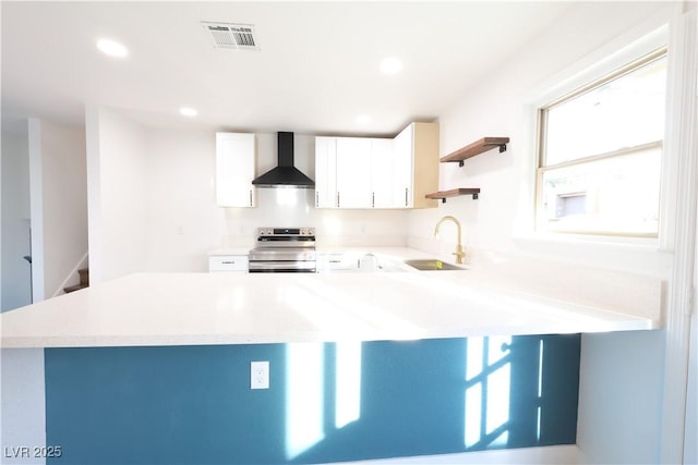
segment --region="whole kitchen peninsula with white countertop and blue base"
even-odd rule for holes
[[[660,327],[654,279],[611,289],[595,270],[527,280],[530,264],[501,258],[417,271],[412,249],[352,254],[369,252],[376,271],[136,273],[2,314],[3,350],[44,347],[46,444],[63,454],[47,463],[575,444],[580,333]],[[262,360],[268,389],[251,389]]]

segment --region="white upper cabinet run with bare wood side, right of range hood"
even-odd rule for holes
[[[315,137],[316,208],[424,208],[437,200],[438,125],[412,123],[397,137]]]

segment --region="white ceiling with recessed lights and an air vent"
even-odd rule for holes
[[[81,125],[97,105],[158,126],[395,134],[438,117],[570,4],[2,1],[3,123]],[[261,50],[216,49],[202,21],[252,23]],[[101,37],[129,57],[101,54]],[[393,56],[404,71],[382,74]]]

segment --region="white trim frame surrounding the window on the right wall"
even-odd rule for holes
[[[652,51],[663,47],[669,47],[670,32],[666,23],[654,23],[653,26],[643,25],[640,30],[631,30],[627,35],[616,40],[610,41],[604,47],[593,53],[580,59],[574,65],[563,70],[550,79],[541,83],[537,88],[531,89],[526,99],[524,108],[524,121],[521,125],[521,146],[526,148],[526,157],[520,160],[522,172],[528,173],[527,179],[520,183],[519,206],[517,218],[515,219],[515,240],[565,243],[565,244],[589,244],[600,246],[637,246],[642,249],[670,252],[672,247],[673,230],[667,219],[673,218],[675,192],[671,186],[671,179],[675,175],[675,157],[672,154],[673,147],[669,137],[671,131],[671,114],[666,118],[666,129],[664,131],[664,150],[662,154],[661,168],[661,193],[660,193],[660,224],[657,237],[627,236],[627,235],[601,235],[601,234],[576,234],[551,231],[540,231],[537,229],[537,204],[538,204],[538,111],[540,108],[555,101],[563,96],[597,82],[604,76],[611,75],[618,69],[631,63]],[[669,76],[667,76],[667,105],[671,101],[672,77],[672,54],[667,50]]]

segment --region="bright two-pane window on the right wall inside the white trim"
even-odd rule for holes
[[[666,50],[539,109],[537,225],[657,237]]]

